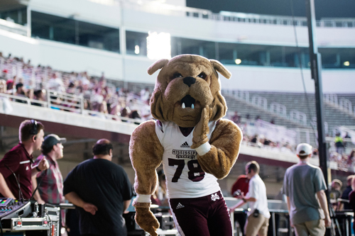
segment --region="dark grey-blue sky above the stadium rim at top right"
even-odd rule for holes
[[[278,16],[305,16],[305,0],[186,0],[186,5],[198,9],[235,11]],[[317,19],[326,17],[355,18],[355,0],[315,0]]]

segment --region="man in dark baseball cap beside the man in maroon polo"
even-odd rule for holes
[[[39,172],[37,176],[32,178],[32,189],[35,191],[38,185],[38,190],[35,191],[33,198],[40,204],[50,203],[59,204],[64,203],[63,196],[63,178],[58,166],[58,159],[63,157],[63,143],[67,139],[65,137],[58,137],[58,135],[47,135],[40,147],[42,154],[35,160],[35,163],[40,162],[41,159],[47,159],[49,168],[44,172]],[[61,220],[65,217],[64,211],[61,211]]]

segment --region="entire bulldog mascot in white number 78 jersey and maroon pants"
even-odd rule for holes
[[[136,223],[155,236],[159,223],[151,210],[157,169],[163,163],[171,213],[180,235],[232,235],[217,179],[229,174],[239,154],[241,130],[226,115],[218,74],[231,73],[216,60],[179,55],[158,60],[160,72],[151,97],[156,120],[132,133],[129,152],[136,172]]]

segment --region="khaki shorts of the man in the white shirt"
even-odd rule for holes
[[[265,216],[259,214],[257,218],[253,214],[249,215],[246,220],[245,235],[246,236],[266,236],[268,235],[268,220]]]

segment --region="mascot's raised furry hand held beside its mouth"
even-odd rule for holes
[[[209,116],[212,115],[212,108],[204,107],[202,109],[201,113],[201,118],[199,123],[195,126],[195,130],[193,133],[192,137],[192,149],[195,149],[196,147],[200,147],[203,145],[205,142],[208,142],[208,133],[209,133],[209,127],[208,127],[208,122],[209,122]]]

